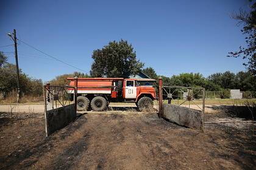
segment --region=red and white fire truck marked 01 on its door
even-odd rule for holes
[[[75,79],[69,86],[75,86]],[[102,111],[110,102],[133,102],[140,110],[151,110],[156,99],[154,79],[77,78],[77,110]],[[73,95],[73,94],[71,94]]]

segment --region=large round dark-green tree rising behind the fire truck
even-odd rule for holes
[[[91,77],[123,77],[138,73],[143,63],[137,60],[131,44],[121,41],[109,42],[102,49],[93,51]]]

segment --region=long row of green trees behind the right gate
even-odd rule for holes
[[[255,77],[249,72],[224,72],[213,73],[208,77],[204,77],[201,73],[180,73],[166,77],[157,75],[152,67],[143,69],[143,72],[149,77],[158,79],[162,77],[165,86],[201,86],[205,90],[222,91],[224,89],[240,89],[242,91],[256,91]]]

